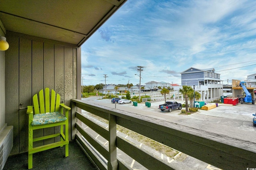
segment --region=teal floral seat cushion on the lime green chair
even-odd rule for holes
[[[66,117],[60,112],[42,113],[33,116],[31,125],[45,125],[49,123],[56,123],[66,121]]]

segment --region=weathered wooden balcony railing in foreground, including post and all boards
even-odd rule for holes
[[[100,169],[131,169],[117,156],[117,148],[148,169],[177,169],[148,151],[128,142],[117,135],[116,126],[128,128],[166,146],[179,150],[194,158],[225,170],[246,169],[256,165],[255,143],[214,134],[204,130],[185,127],[160,119],[146,117],[126,111],[98,106],[78,99],[72,99],[72,139],[76,138]],[[91,121],[77,110],[83,109],[108,121],[108,129]],[[100,144],[84,128],[86,124],[100,136],[108,140],[108,148]],[[83,138],[93,146],[84,142]],[[108,166],[102,162],[103,156]]]

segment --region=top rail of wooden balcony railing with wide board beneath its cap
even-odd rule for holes
[[[116,122],[134,132],[222,169],[244,169],[256,164],[255,143],[206,132],[152,117],[146,117],[92,103],[79,102],[84,108],[98,109],[117,116]],[[83,104],[84,103],[84,104]]]

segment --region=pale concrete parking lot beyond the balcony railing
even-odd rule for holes
[[[256,127],[253,127],[252,124],[252,114],[256,112],[256,105],[251,103],[239,103],[236,106],[219,104],[214,109],[208,111],[199,109],[195,114],[184,116],[179,115],[180,110],[178,109],[174,109],[170,113],[160,111],[158,105],[164,104],[164,101],[154,101],[151,102],[150,107],[146,107],[145,103],[138,103],[138,106],[133,106],[132,103],[114,104],[110,102],[110,99],[99,100],[99,97],[83,100],[256,143]],[[185,100],[176,101],[182,104],[185,103]]]

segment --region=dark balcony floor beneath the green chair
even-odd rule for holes
[[[35,153],[32,170],[98,170],[76,141],[69,143],[69,156],[65,158],[64,155],[64,147]],[[26,169],[28,169],[28,152],[9,156],[4,165],[4,170]]]

